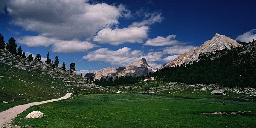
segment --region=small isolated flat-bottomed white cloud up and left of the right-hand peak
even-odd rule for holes
[[[144,45],[149,46],[168,46],[180,44],[180,41],[174,40],[176,35],[169,35],[166,38],[163,36],[158,36],[154,39],[148,39]]]

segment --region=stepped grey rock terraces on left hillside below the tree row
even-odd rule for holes
[[[61,67],[55,67],[52,70],[49,64],[44,62],[29,61],[26,58],[22,58],[18,55],[11,54],[0,49],[0,62],[17,67],[22,70],[27,70],[29,72],[40,72],[51,76],[53,79],[59,80],[66,86],[75,86],[79,89],[77,91],[85,92],[113,92],[113,90],[108,90],[94,83],[87,81],[86,78],[76,75],[74,72],[62,70]]]

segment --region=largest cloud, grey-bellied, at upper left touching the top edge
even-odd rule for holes
[[[89,4],[88,0],[9,0],[13,24],[48,38],[92,38],[95,32],[126,14],[123,6]]]

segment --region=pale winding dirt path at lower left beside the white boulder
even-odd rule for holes
[[[9,108],[6,111],[0,112],[0,128],[4,126],[4,124],[11,122],[11,119],[17,116],[18,114],[22,113],[25,111],[27,108],[34,106],[34,105],[39,105],[39,104],[45,104],[49,102],[54,102],[54,101],[59,101],[61,99],[67,99],[71,96],[73,93],[67,93],[65,96],[57,99],[51,99],[47,101],[41,101],[41,102],[34,102],[34,103],[29,103],[29,104],[24,104],[24,105],[19,105],[15,106],[12,108]]]

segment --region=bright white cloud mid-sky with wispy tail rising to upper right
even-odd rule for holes
[[[142,43],[148,37],[149,25],[160,23],[163,20],[163,17],[158,12],[145,13],[144,15],[143,21],[134,22],[126,28],[103,28],[93,38],[93,41],[109,43],[114,46],[122,43]]]

